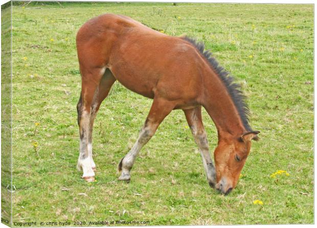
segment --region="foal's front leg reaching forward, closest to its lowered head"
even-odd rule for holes
[[[201,106],[184,110],[184,113],[199,148],[209,185],[214,188],[216,184],[216,170],[210,158],[207,134],[201,120]]]

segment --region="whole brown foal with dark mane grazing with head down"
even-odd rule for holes
[[[138,140],[120,161],[119,180],[130,180],[130,170],[141,148],[163,119],[182,109],[199,147],[212,187],[223,194],[235,188],[258,131],[248,124],[248,108],[232,77],[219,67],[202,43],[172,37],[122,15],[104,14],[88,20],[78,31],[77,51],[82,77],[77,105],[82,178],[94,181],[92,156],[94,119],[101,102],[116,80],[129,90],[152,98],[153,103]],[[214,153],[209,154],[201,106],[218,131]]]

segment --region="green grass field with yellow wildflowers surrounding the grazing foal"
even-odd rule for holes
[[[131,182],[118,181],[117,165],[137,139],[151,100],[117,82],[95,121],[97,181],[80,178],[75,37],[86,20],[107,12],[169,35],[197,37],[236,76],[261,140],[253,143],[230,195],[209,187],[180,110],[143,148]],[[205,111],[203,119],[213,153],[216,129]],[[271,177],[278,170],[289,175]],[[13,6],[13,176],[13,222],[38,226],[313,223],[313,5]]]

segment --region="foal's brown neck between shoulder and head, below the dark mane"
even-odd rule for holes
[[[205,88],[203,107],[213,119],[219,139],[242,135],[245,128],[227,88],[219,79],[207,82]]]

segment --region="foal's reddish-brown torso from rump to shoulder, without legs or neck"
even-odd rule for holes
[[[78,31],[77,49],[80,63],[109,68],[122,85],[146,97],[194,98],[200,91],[197,69],[203,61],[197,50],[129,17],[103,14],[88,20]]]

